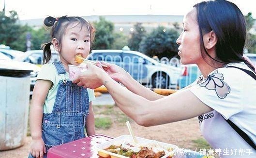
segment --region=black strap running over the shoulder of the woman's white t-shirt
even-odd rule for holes
[[[243,69],[243,68],[240,68],[240,67],[236,67],[236,66],[226,66],[226,67],[238,68],[238,69],[242,70],[243,72],[245,72],[246,74],[250,75],[253,79],[256,80],[256,75],[253,72],[249,71],[249,70],[246,70],[246,69]],[[225,119],[225,120],[249,145],[251,145],[256,150],[255,143],[253,142],[253,140],[245,132],[243,132],[237,125],[235,125],[229,119]]]

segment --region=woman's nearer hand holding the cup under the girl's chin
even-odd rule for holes
[[[87,70],[82,72],[80,76],[72,82],[84,88],[95,89],[103,85],[104,75],[107,76],[102,67],[87,64]]]

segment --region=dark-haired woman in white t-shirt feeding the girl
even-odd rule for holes
[[[122,68],[107,63],[105,71],[99,63],[99,67],[89,65],[74,82],[89,88],[105,85],[120,109],[139,125],[199,116],[203,136],[213,148],[222,150],[222,158],[244,158],[245,152],[256,157],[249,141],[226,121],[256,142],[256,76],[254,67],[242,57],[245,39],[245,20],[235,4],[226,0],[201,2],[184,17],[177,39],[181,63],[196,64],[202,73],[190,86],[164,97],[137,83]]]

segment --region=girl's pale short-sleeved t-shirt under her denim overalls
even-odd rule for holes
[[[57,69],[53,64],[45,64],[42,66],[41,71],[38,73],[37,79],[50,80],[53,83],[53,86],[49,90],[44,104],[44,113],[51,113],[59,87],[58,84],[60,80],[70,80],[69,73],[66,72],[66,74],[58,75]],[[89,95],[89,102],[95,100],[94,90],[87,88],[87,91]]]

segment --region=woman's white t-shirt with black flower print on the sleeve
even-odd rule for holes
[[[244,63],[227,66],[252,71]],[[221,150],[221,158],[256,158],[256,151],[224,120],[230,119],[256,143],[256,80],[238,68],[222,67],[194,82],[190,91],[214,109],[198,118],[202,135]]]

